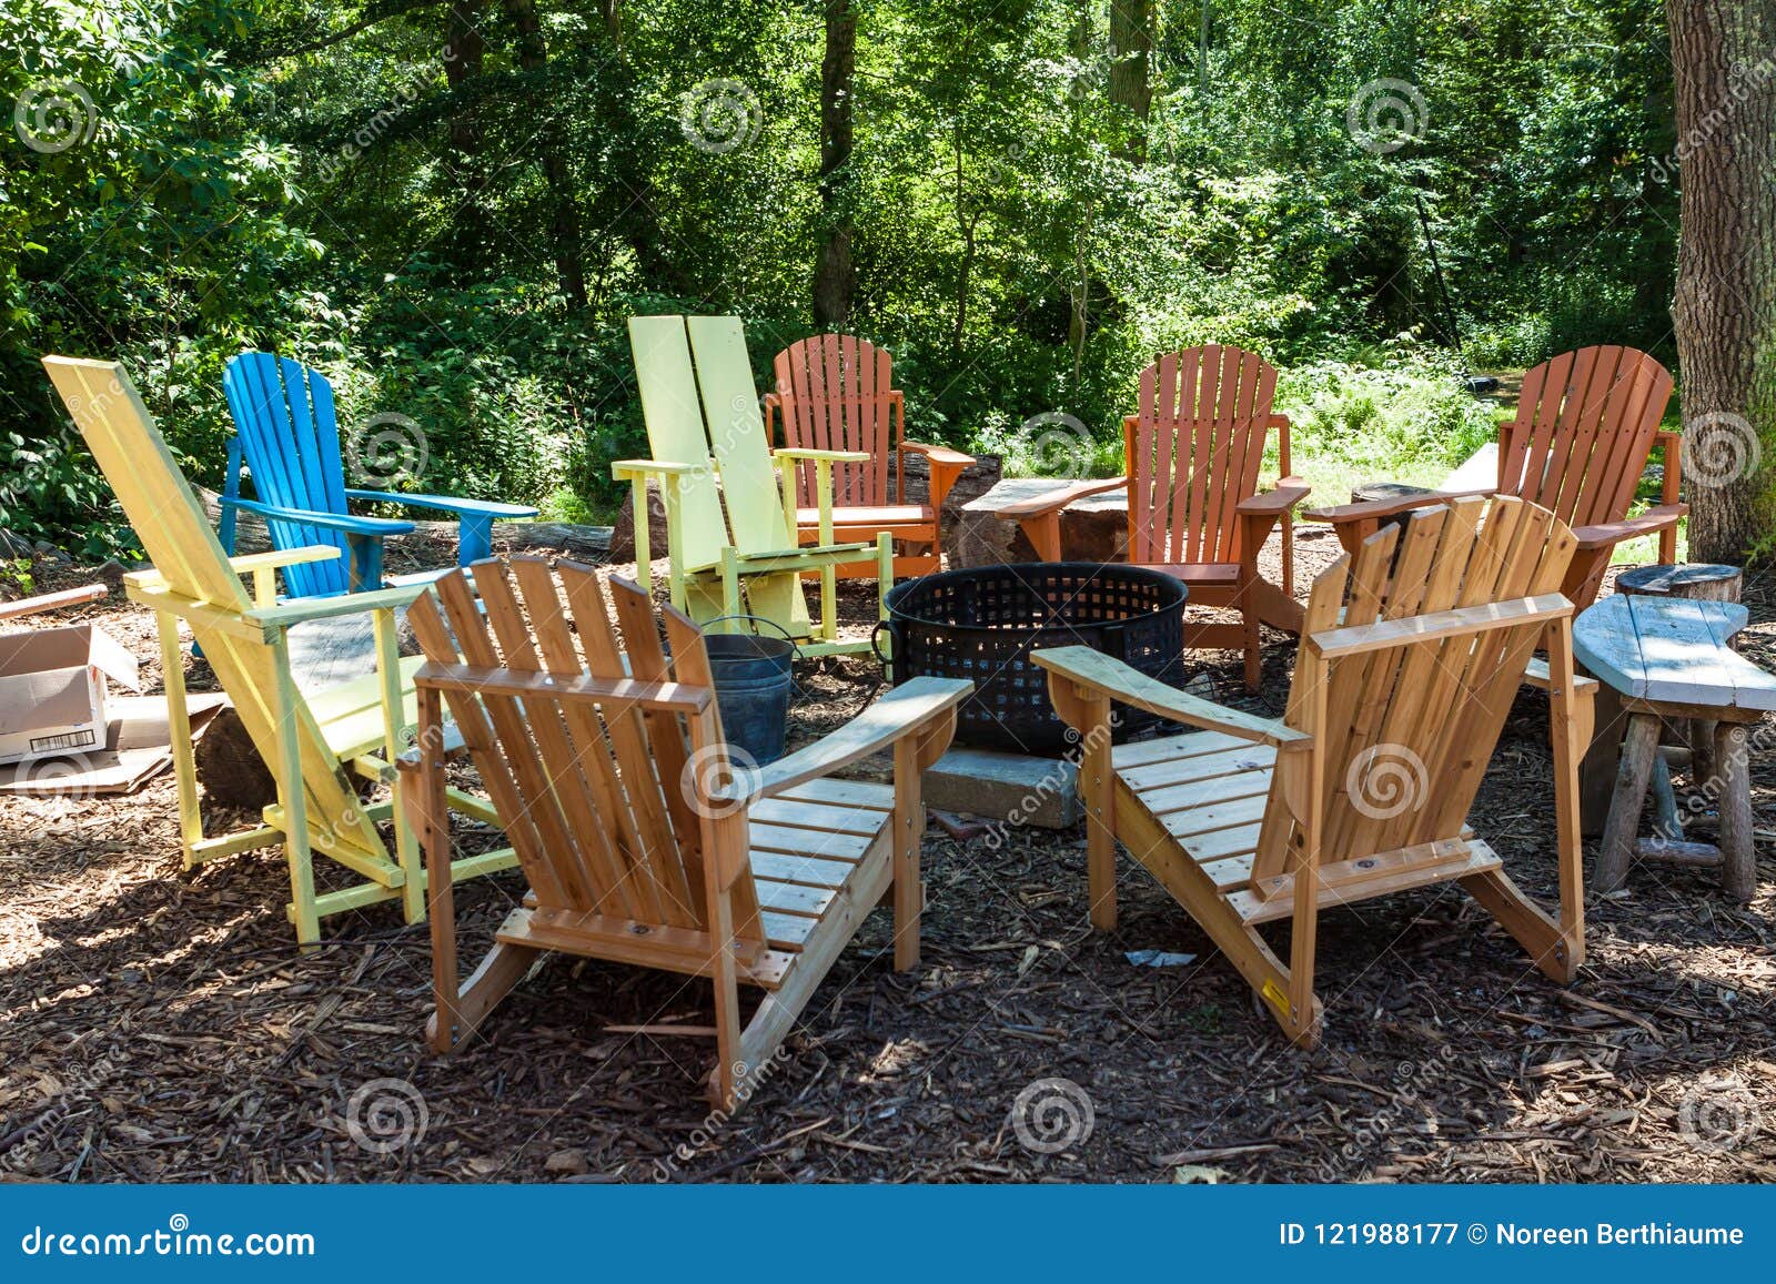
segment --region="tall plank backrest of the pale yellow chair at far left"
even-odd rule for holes
[[[229,567],[202,504],[123,366],[71,357],[44,357],[43,364],[167,588],[231,614],[250,611],[245,584]],[[274,650],[201,618],[188,618],[188,623],[259,757],[277,762]],[[300,696],[295,717],[313,822],[325,828],[330,842],[384,858],[382,838],[362,815],[357,794]]]

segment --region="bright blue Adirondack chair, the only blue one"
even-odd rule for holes
[[[302,362],[270,352],[243,352],[227,364],[222,391],[234,416],[222,492],[222,547],[234,552],[234,519],[245,511],[265,519],[277,549],[330,543],[346,554],[289,567],[284,572],[289,597],[382,588],[382,542],[412,531],[414,524],[353,517],[346,510],[352,499],[456,513],[456,559],[464,567],[492,554],[496,519],[536,517],[536,510],[524,504],[348,487],[332,384]],[[240,495],[243,460],[256,499]]]

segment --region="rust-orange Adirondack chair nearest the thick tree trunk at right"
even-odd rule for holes
[[[1659,533],[1659,561],[1677,561],[1680,435],[1662,432],[1671,375],[1645,352],[1598,346],[1565,352],[1524,375],[1517,416],[1499,424],[1499,481],[1474,494],[1518,495],[1572,527],[1577,552],[1565,593],[1581,611],[1597,600],[1609,554],[1623,540]],[[1629,517],[1653,446],[1664,448],[1661,501]],[[1378,499],[1302,513],[1332,522],[1346,552],[1396,517],[1439,495]]]

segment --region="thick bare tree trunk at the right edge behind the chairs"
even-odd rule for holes
[[[1693,561],[1771,533],[1776,0],[1668,0],[1682,174],[1677,298]],[[1765,549],[1767,552],[1767,549]]]

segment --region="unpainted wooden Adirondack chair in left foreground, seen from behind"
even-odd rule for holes
[[[561,563],[559,588],[542,559],[511,570],[515,586],[504,568],[476,567],[485,618],[460,572],[437,584],[442,614],[430,598],[410,613],[428,664],[421,748],[401,769],[426,863],[451,868],[448,707],[531,884],[458,987],[451,881],[433,881],[432,1044],[467,1039],[547,950],[710,977],[710,1090],[732,1108],[890,892],[895,966],[918,964],[920,773],[950,742],[971,684],[916,678],[824,741],[735,771],[687,616],[666,611],[668,661],[648,593],[611,581],[625,659],[591,568]],[[890,748],[893,785],[828,780]],[[744,1026],[741,984],[765,991]]]

